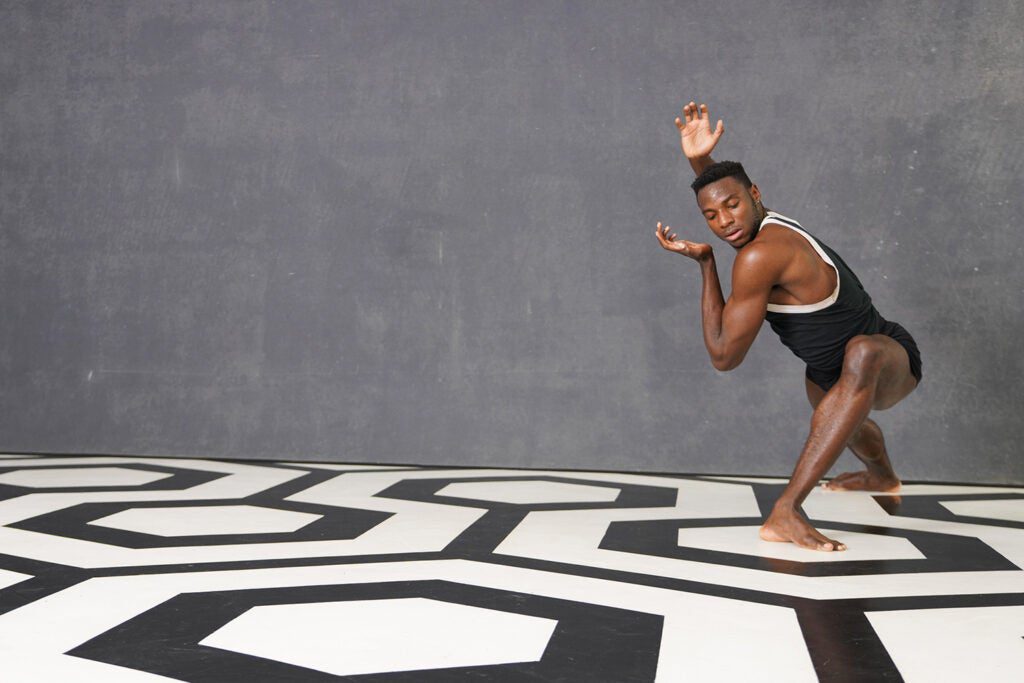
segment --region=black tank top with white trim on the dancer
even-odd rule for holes
[[[807,305],[768,304],[765,319],[782,343],[816,370],[831,372],[843,367],[846,343],[856,335],[878,334],[885,318],[871,303],[860,280],[839,254],[811,237],[797,221],[769,211],[761,226],[784,225],[807,239],[814,251],[839,274],[831,295]]]

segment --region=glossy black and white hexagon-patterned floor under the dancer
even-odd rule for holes
[[[1024,488],[0,456],[0,680],[1024,679]]]

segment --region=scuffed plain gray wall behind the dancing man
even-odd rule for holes
[[[672,124],[924,355],[907,478],[1024,482],[1019,2],[5,2],[0,447],[788,474]],[[731,249],[716,247],[728,283]],[[849,455],[841,461],[852,465]]]

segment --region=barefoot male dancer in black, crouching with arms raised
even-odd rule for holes
[[[849,266],[791,218],[769,211],[761,191],[735,162],[715,163],[708,105],[690,102],[676,119],[683,153],[697,178],[691,185],[700,211],[736,258],[732,294],[725,301],[709,244],[679,240],[657,223],[662,247],[699,263],[703,278],[705,345],[717,370],[746,355],[767,318],[794,353],[807,362],[811,431],[785,490],[761,526],[765,541],[820,551],[846,550],[803,516],[800,506],[846,446],[865,465],[825,484],[833,490],[899,490],[882,430],[867,415],[892,408],[921,381],[921,354],[910,334],[883,318]]]

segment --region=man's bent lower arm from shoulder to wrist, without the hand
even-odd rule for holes
[[[725,301],[714,253],[700,261],[705,346],[716,370],[729,371],[743,361],[761,330],[779,270],[767,250],[743,250],[733,263],[732,294]]]

